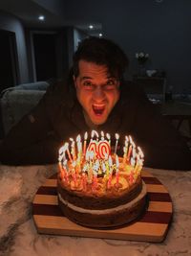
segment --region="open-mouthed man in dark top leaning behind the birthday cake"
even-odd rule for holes
[[[63,141],[96,129],[113,136],[117,132],[121,140],[131,134],[145,154],[145,166],[190,170],[191,152],[180,134],[136,84],[123,80],[127,65],[114,42],[96,37],[82,41],[74,54],[72,80],[51,85],[11,128],[0,147],[1,162],[55,163]]]

